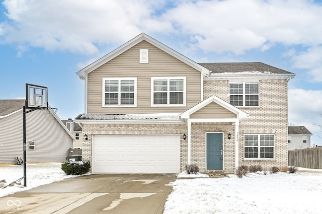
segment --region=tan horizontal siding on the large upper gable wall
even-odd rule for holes
[[[139,63],[139,50],[149,63]],[[102,107],[103,78],[137,78],[137,107]],[[151,77],[187,77],[185,107],[151,107]],[[183,112],[201,101],[201,73],[143,41],[88,75],[88,114]]]

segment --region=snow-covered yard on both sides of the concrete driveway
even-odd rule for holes
[[[0,197],[57,180],[60,163],[27,165],[27,187],[8,186]],[[181,173],[182,175],[184,173]],[[23,166],[0,166],[0,180],[23,176]],[[322,170],[277,174],[249,173],[243,178],[177,179],[170,183],[164,214],[170,213],[321,213]]]

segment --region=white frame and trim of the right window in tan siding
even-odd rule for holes
[[[183,104],[170,104],[170,80],[183,80]],[[153,104],[154,80],[167,80],[167,104]],[[187,78],[186,77],[151,77],[151,107],[182,107],[187,101]]]

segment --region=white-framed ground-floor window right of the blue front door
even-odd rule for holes
[[[244,135],[244,158],[274,159],[274,134]]]

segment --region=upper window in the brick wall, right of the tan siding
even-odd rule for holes
[[[259,106],[259,83],[229,83],[229,103],[234,106]]]

